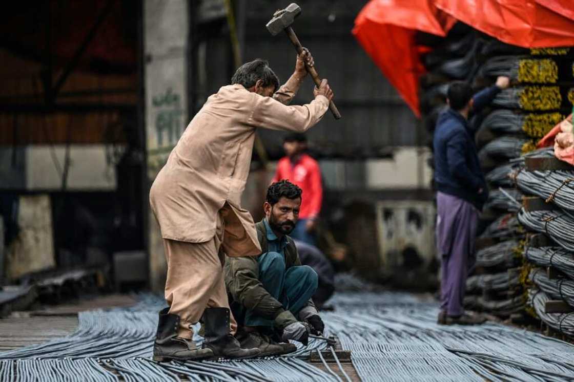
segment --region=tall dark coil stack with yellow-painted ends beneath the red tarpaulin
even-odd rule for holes
[[[520,173],[524,184],[546,180],[537,192],[515,188],[510,174],[523,165],[523,160],[513,159],[532,151],[534,143],[572,108],[568,96],[574,96],[569,93],[573,61],[574,49],[519,48],[460,25],[425,57],[429,73],[421,81],[421,110],[429,132],[434,132],[437,116],[445,107],[450,81],[468,81],[476,91],[492,85],[498,76],[510,77],[512,84],[498,93],[487,110],[469,120],[470,128],[477,131],[480,165],[490,189],[481,215],[481,226],[486,228],[480,229],[476,267],[467,284],[466,303],[472,309],[507,316],[526,307],[526,294],[518,282],[528,278],[528,272],[525,276],[519,271],[525,240],[525,229],[518,222],[523,194],[548,198],[567,174]],[[554,202],[574,206],[574,190],[569,195],[569,189],[554,193]],[[554,224],[549,226],[554,229]],[[563,242],[574,249],[574,234],[572,244]]]

